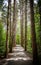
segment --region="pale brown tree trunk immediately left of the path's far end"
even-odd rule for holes
[[[14,0],[14,6],[13,6],[13,35],[12,35],[12,45],[16,46],[16,0]]]

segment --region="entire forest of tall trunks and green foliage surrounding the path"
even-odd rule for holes
[[[41,61],[41,0],[0,0],[0,58],[17,44]]]

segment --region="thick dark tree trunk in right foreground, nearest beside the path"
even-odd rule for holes
[[[31,36],[32,36],[33,62],[38,63],[37,62],[38,61],[38,52],[37,52],[37,44],[36,44],[33,0],[30,0],[30,12],[31,12]]]

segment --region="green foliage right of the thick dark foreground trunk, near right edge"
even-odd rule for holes
[[[36,8],[35,8],[36,9]],[[37,47],[38,47],[38,52],[41,51],[41,42],[40,42],[40,15],[39,15],[39,11],[38,10],[38,6],[36,9],[36,13],[35,13],[35,30],[36,30],[36,41],[37,41]]]

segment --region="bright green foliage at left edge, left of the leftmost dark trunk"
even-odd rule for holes
[[[2,22],[0,22],[0,56],[5,53],[5,32],[3,30]]]

